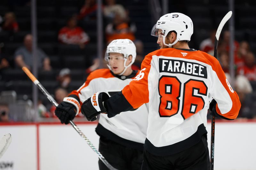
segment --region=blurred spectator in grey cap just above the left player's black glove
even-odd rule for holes
[[[59,87],[66,89],[68,92],[71,92],[71,90],[73,90],[73,89],[69,89],[71,76],[70,76],[70,70],[68,68],[64,68],[60,70],[59,76],[57,77],[57,81],[59,82]]]

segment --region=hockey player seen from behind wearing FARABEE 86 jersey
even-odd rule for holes
[[[188,47],[192,33],[188,16],[165,14],[152,28],[160,49],[145,56],[140,74],[109,99],[97,92],[82,105],[82,113],[93,120],[100,113],[113,117],[149,102],[142,170],[210,170],[209,102],[215,99],[212,114],[227,120],[235,119],[241,107],[218,60]]]

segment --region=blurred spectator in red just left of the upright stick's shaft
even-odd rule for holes
[[[200,46],[199,46],[200,51],[204,51],[208,54],[213,53],[212,51],[214,50],[215,35],[216,35],[216,30],[211,30],[210,37],[203,40],[200,43]]]

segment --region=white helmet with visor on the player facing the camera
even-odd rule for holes
[[[130,67],[136,58],[136,47],[132,40],[129,39],[116,39],[108,44],[107,51],[105,54],[105,60],[108,61],[109,53],[120,53],[124,55],[124,70],[119,75],[123,75],[128,67]],[[132,62],[129,65],[125,65],[129,55],[132,55]],[[107,64],[108,65],[108,64]],[[111,67],[108,65],[110,70]]]

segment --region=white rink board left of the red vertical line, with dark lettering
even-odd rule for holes
[[[0,169],[36,170],[36,126],[0,126],[0,136],[12,135],[12,143],[0,159]]]

